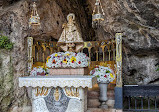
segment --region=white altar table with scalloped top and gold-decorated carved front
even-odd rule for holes
[[[85,112],[87,89],[94,76],[29,76],[19,78],[19,87],[32,88],[32,112]]]

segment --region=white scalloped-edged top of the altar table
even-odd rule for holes
[[[19,87],[75,87],[92,88],[97,83],[95,76],[60,75],[28,76],[19,78]]]

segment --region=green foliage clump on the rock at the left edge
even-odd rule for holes
[[[0,48],[11,50],[13,48],[13,43],[10,42],[7,36],[0,34]]]

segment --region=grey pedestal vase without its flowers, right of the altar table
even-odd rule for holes
[[[98,83],[99,89],[100,89],[100,96],[99,101],[101,102],[100,108],[107,109],[108,106],[106,104],[107,102],[107,86],[108,83],[99,82]]]

